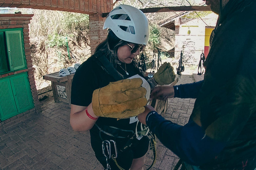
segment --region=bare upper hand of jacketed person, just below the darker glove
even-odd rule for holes
[[[157,86],[151,91],[151,99],[166,100],[174,97],[174,88],[172,85]]]

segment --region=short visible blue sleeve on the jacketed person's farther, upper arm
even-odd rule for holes
[[[197,98],[199,91],[202,87],[204,80],[188,83],[188,84],[180,84],[174,87],[174,97],[178,98]]]

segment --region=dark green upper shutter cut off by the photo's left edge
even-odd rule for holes
[[[0,73],[8,71],[6,48],[4,45],[4,32],[0,32]]]

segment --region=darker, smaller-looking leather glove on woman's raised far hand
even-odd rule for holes
[[[171,84],[175,79],[175,73],[171,64],[164,62],[154,74],[154,79],[159,85]]]

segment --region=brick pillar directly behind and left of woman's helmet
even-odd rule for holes
[[[91,54],[94,53],[95,48],[107,37],[107,29],[103,30],[103,24],[106,18],[102,18],[102,14],[89,15],[89,34]]]

